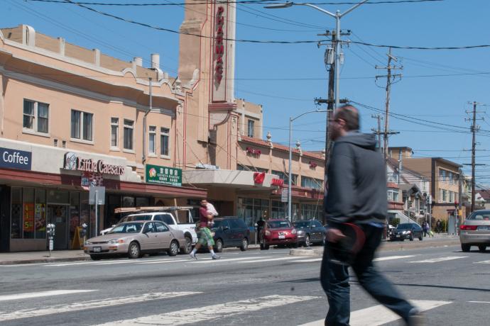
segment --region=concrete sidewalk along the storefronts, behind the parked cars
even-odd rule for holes
[[[249,245],[249,250],[260,249],[258,245]],[[239,251],[239,248],[225,248],[223,252]],[[83,250],[54,250],[51,252],[0,252],[0,265],[36,264],[46,262],[75,262],[90,260]]]

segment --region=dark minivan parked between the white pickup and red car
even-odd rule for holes
[[[214,250],[222,252],[223,248],[239,247],[244,252],[249,247],[250,230],[244,220],[236,216],[214,218],[211,229],[214,232]]]

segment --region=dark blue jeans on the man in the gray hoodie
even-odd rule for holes
[[[372,225],[360,226],[366,234],[366,242],[357,254],[352,269],[361,286],[373,298],[400,315],[406,322],[410,310],[414,308],[413,305],[403,299],[393,285],[373,266],[374,252],[381,244],[383,229]],[[323,251],[320,281],[323,290],[327,293],[329,304],[325,325],[348,326],[351,312],[348,267],[329,262],[327,250]]]

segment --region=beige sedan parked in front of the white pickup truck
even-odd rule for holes
[[[92,237],[84,245],[85,254],[94,260],[111,256],[134,259],[158,252],[175,256],[179,250],[188,253],[184,232],[156,220],[119,223],[106,235]]]

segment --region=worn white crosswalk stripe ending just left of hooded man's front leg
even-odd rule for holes
[[[199,322],[206,322],[220,317],[230,317],[243,313],[274,308],[291,303],[298,303],[306,300],[314,300],[317,296],[264,296],[256,299],[240,300],[217,305],[208,305],[206,307],[191,308],[172,313],[163,313],[160,315],[150,315],[138,317],[131,320],[119,320],[102,324],[103,326],[113,325],[186,325]],[[101,325],[101,326],[102,326]]]

